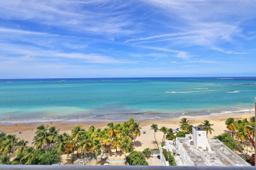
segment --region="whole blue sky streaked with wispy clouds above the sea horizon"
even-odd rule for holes
[[[254,0],[0,0],[0,78],[256,76]]]

